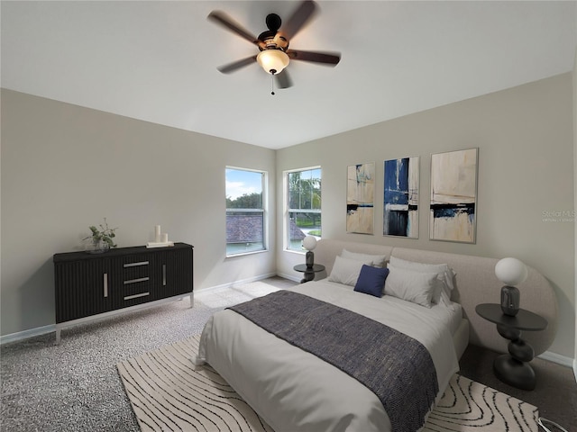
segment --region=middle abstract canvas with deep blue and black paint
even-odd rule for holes
[[[384,162],[382,233],[418,238],[419,157]]]

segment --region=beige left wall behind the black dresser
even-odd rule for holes
[[[224,166],[269,172],[275,151],[2,90],[2,335],[54,324],[52,255],[106,217],[120,247],[160,224],[195,246],[195,289],[274,274],[270,252],[225,259]]]

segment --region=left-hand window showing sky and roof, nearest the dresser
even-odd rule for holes
[[[266,250],[266,176],[226,167],[226,257]]]

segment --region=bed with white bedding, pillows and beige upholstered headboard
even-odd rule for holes
[[[499,341],[494,328],[486,327],[477,320],[477,317],[472,316],[469,310],[474,302],[472,299],[479,296],[485,301],[489,301],[491,296],[498,299],[499,281],[494,275],[492,277],[487,275],[490,273],[490,266],[494,267],[497,262],[496,259],[321,240],[316,248],[316,262],[326,266],[327,277],[324,279],[300,284],[289,290],[290,293],[281,293],[282,295],[273,293],[270,299],[256,299],[248,306],[239,306],[237,311],[228,309],[215,313],[206,323],[198,355],[193,359],[197,365],[206,362],[214,367],[276,432],[417,430],[418,427],[415,425],[422,425],[425,422],[426,413],[443,395],[449,379],[458,370],[458,359],[470,339],[474,339],[477,345],[492,344],[491,347],[496,345],[499,350],[500,342],[493,343],[495,340]],[[382,268],[385,266],[388,270]],[[361,279],[364,282],[369,280],[369,291],[374,291],[372,284],[374,278],[367,279],[366,275],[379,274],[382,277],[387,272],[384,279],[385,295],[382,297],[362,290],[355,291]],[[421,275],[417,275],[419,273]],[[553,290],[545,278],[534,269],[529,269],[529,276],[529,284],[525,283],[523,293],[527,294],[528,290],[529,293],[536,291],[540,294],[542,310],[537,313],[540,312],[545,316],[553,315],[548,319],[553,318],[550,323],[553,323],[555,328],[556,302]],[[397,290],[396,292],[388,291],[387,281],[390,283],[390,289]],[[470,281],[473,286],[467,286]],[[419,286],[417,291],[412,288],[414,286]],[[359,351],[364,347],[359,348],[355,345],[349,358],[343,360],[345,363],[348,362],[343,366],[334,363],[334,359],[330,356],[325,356],[325,350],[331,351],[333,345],[338,345],[337,342],[330,342],[330,339],[319,336],[318,343],[315,343],[316,340],[312,342],[305,340],[304,343],[308,345],[303,346],[300,345],[300,339],[296,341],[287,339],[292,338],[290,335],[293,333],[300,334],[300,331],[285,331],[289,336],[282,333],[282,328],[287,329],[291,320],[296,320],[300,316],[306,317],[307,324],[304,326],[296,324],[296,327],[291,329],[307,327],[311,321],[306,309],[299,310],[298,314],[289,317],[289,324],[279,325],[279,333],[276,336],[273,333],[277,330],[266,327],[267,325],[274,327],[274,322],[255,324],[259,322],[258,320],[267,321],[266,317],[259,319],[251,315],[251,313],[258,315],[259,311],[280,320],[280,312],[277,314],[276,310],[267,309],[273,307],[272,303],[281,304],[278,311],[283,307],[286,310],[292,309],[286,304],[282,305],[279,297],[283,296],[288,298],[282,302],[295,304],[296,308],[300,307],[301,301],[303,305],[312,302],[311,311],[317,311],[321,307],[319,305],[322,305],[323,308],[332,308],[328,310],[330,313],[342,312],[347,320],[358,319],[361,320],[360,323],[371,321],[379,326],[379,329],[394,333],[395,338],[407,338],[399,339],[398,345],[400,347],[415,345],[416,349],[421,349],[418,351],[418,358],[425,356],[422,358],[426,358],[426,361],[423,360],[421,366],[421,360],[417,363],[409,360],[413,356],[417,358],[416,354],[406,354],[408,357],[404,360],[395,364],[380,365],[381,369],[377,369],[383,371],[390,368],[392,375],[397,375],[398,380],[404,380],[401,380],[402,385],[391,381],[394,377],[384,374],[381,379],[381,372],[378,374],[373,372],[372,376],[378,376],[379,379],[368,380],[371,383],[367,384],[367,380],[363,381],[364,378],[359,376],[366,377],[367,374],[370,376],[370,370],[363,369],[357,376],[346,369],[348,363],[353,363],[354,367],[361,369],[367,363],[371,363],[365,361],[365,355]],[[531,294],[528,296],[531,297]],[[547,300],[549,298],[552,299],[551,302]],[[255,303],[256,301],[260,303]],[[474,305],[472,308],[474,309]],[[349,334],[344,336],[355,340],[355,343],[356,339],[362,339],[363,335],[377,334],[375,329],[365,327],[365,324],[353,324],[357,321],[346,322],[349,324],[342,327],[335,325],[334,322],[324,326],[323,320],[319,320],[312,326],[329,328],[330,333],[338,335],[332,336],[333,338],[342,338],[342,333],[348,332]],[[373,340],[372,344],[368,342],[371,346],[369,349],[375,346],[379,346],[379,349],[383,349],[380,346],[388,347],[390,340],[390,347],[387,349],[394,351],[396,349],[393,346],[394,338],[389,339],[389,333],[384,335],[387,344],[375,344],[374,339],[369,339]],[[306,336],[304,338],[307,339]],[[546,349],[552,338],[549,329],[545,332],[545,337],[542,335],[541,338],[532,341],[537,345],[536,351],[543,347]],[[324,342],[321,343],[321,340]],[[490,343],[483,344],[484,340],[490,340]],[[408,344],[408,341],[411,341],[411,344]],[[358,359],[355,360],[354,357],[357,356]],[[385,357],[389,358],[387,354],[382,353],[371,353],[366,358],[369,357],[378,358],[375,363],[384,361],[382,359]],[[402,372],[398,372],[396,367],[413,369],[402,369]],[[434,374],[428,371],[431,367],[434,368]],[[411,385],[416,385],[417,389],[421,387],[425,389],[429,382],[425,385],[417,378],[413,379],[417,376],[421,379],[421,375],[426,375],[429,382],[435,381],[434,388],[427,387],[428,396],[421,397],[415,389],[408,390],[409,387],[405,387],[411,381],[417,381]],[[391,394],[383,395],[381,388],[383,383],[389,386]],[[378,388],[375,390],[374,387],[370,388],[370,385]],[[400,392],[400,388],[407,390]]]

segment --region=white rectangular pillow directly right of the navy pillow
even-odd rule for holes
[[[389,276],[385,281],[385,294],[430,308],[436,277],[436,273],[389,268]]]

